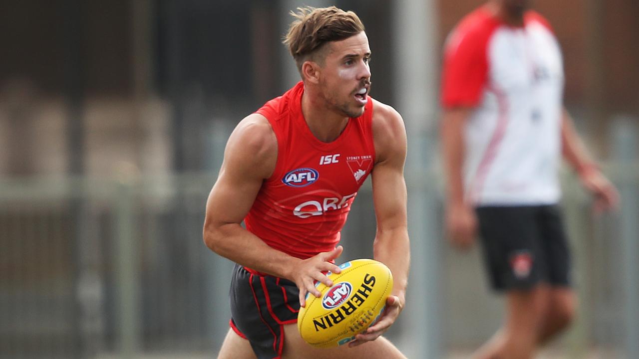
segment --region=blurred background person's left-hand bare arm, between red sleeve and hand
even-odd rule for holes
[[[463,137],[463,118],[459,111],[447,111],[442,119],[442,153],[447,183],[447,201],[450,204],[463,204],[464,186],[462,167],[465,144]]]

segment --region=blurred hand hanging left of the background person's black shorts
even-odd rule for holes
[[[449,204],[446,208],[446,230],[450,243],[460,249],[468,249],[475,241],[477,215],[466,204]]]

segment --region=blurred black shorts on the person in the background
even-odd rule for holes
[[[484,259],[493,289],[530,289],[541,282],[570,286],[570,256],[560,208],[481,206]]]

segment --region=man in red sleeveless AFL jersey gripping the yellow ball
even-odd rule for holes
[[[368,96],[371,50],[357,15],[298,10],[284,43],[302,81],[236,126],[206,204],[204,242],[236,263],[219,358],[404,358],[380,337],[404,307],[408,277],[403,119]],[[374,259],[394,288],[380,320],[348,346],[312,348],[297,313],[307,293],[319,297],[315,280],[331,286],[324,273],[339,273],[335,246],[369,174]]]

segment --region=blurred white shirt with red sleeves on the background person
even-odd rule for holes
[[[443,106],[473,108],[466,197],[476,205],[557,202],[564,72],[548,22],[527,11],[513,27],[484,6],[450,34],[444,56]]]

